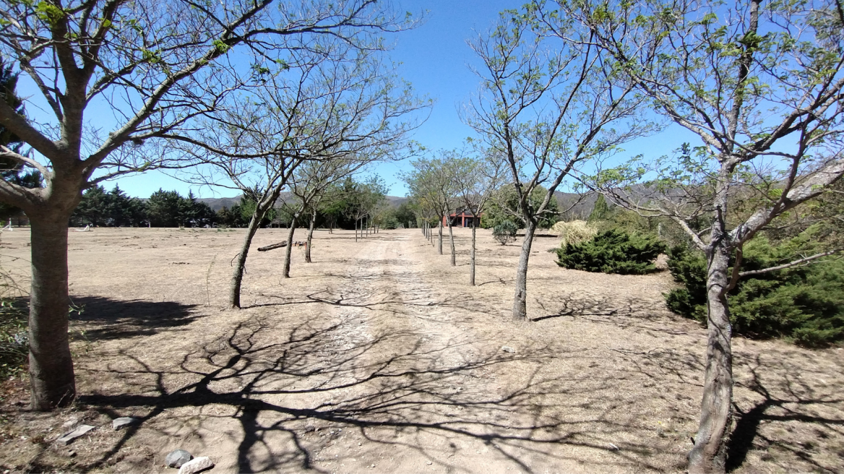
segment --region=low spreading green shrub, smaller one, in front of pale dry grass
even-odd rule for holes
[[[560,247],[557,264],[587,272],[643,275],[657,270],[653,261],[664,250],[665,245],[652,235],[611,229],[592,240]]]

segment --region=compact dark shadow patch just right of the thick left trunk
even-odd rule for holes
[[[197,319],[197,304],[176,301],[123,301],[100,296],[74,297],[72,321],[82,323],[89,340],[122,339],[150,336],[160,331],[172,331]]]

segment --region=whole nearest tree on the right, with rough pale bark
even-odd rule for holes
[[[723,472],[733,420],[727,294],[749,274],[742,246],[844,174],[844,10],[837,0],[560,7],[556,16],[586,26],[660,114],[701,138],[679,159],[603,170],[594,184],[625,207],[674,219],[706,254],[706,375],[689,471]],[[649,186],[625,186],[649,171]]]

